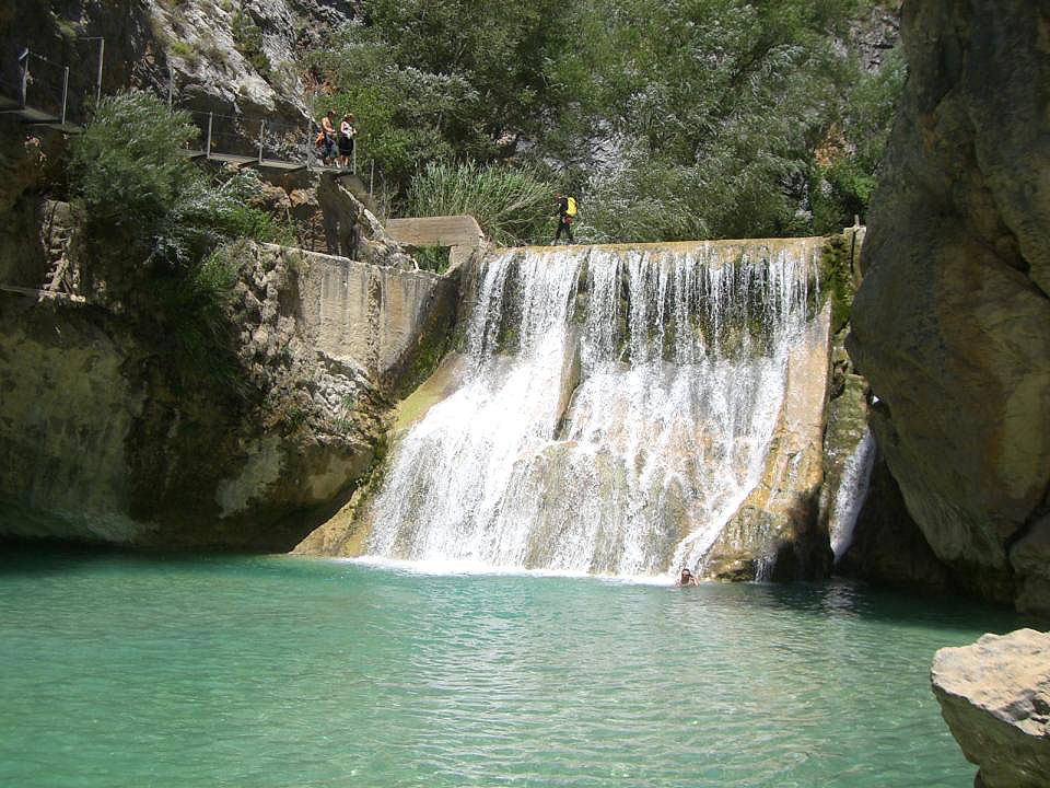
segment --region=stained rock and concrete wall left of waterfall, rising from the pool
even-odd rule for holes
[[[119,316],[0,293],[0,534],[284,551],[351,498],[440,279],[273,245],[234,254],[240,395]],[[347,288],[362,310],[340,306]],[[339,321],[382,352],[335,352],[320,336]]]

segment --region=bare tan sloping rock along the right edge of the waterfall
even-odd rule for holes
[[[792,352],[762,478],[704,557],[701,577],[750,580],[771,565],[769,579],[786,580],[824,577],[830,568],[818,518],[830,323],[828,303]]]

